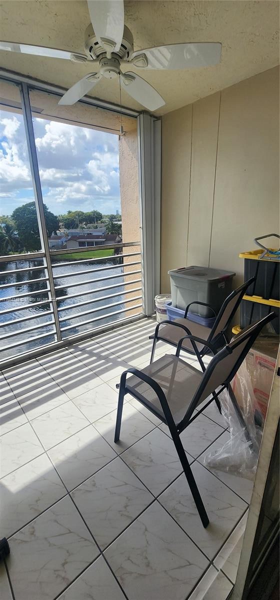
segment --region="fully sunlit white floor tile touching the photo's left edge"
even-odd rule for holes
[[[18,469],[44,450],[31,425],[20,425],[0,437],[0,478]]]

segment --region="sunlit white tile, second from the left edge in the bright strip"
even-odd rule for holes
[[[87,425],[89,425],[88,419],[71,400],[32,421],[32,427],[46,450],[63,442]]]

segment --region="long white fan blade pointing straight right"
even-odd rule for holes
[[[210,67],[221,60],[222,44],[170,44],[138,50],[131,55],[131,62],[136,67],[148,69],[185,69]],[[146,59],[145,59],[146,56]]]

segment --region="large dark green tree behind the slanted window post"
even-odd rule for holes
[[[50,212],[44,204],[44,215],[46,221],[47,235],[52,235],[59,227],[58,217]],[[41,250],[41,241],[39,235],[39,227],[37,220],[37,212],[35,202],[28,202],[16,208],[11,215],[11,218],[16,223],[17,234],[20,243],[26,251]]]

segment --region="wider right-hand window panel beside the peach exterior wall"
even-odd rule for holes
[[[115,247],[140,239],[137,121],[82,102],[58,106],[35,89],[30,99],[43,199],[59,220],[49,245],[61,250],[52,262],[66,338],[141,313],[141,272],[130,275],[141,269],[140,246],[121,250],[127,257]]]

